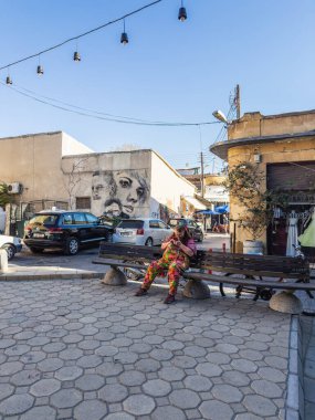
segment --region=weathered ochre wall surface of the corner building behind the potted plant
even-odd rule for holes
[[[266,178],[267,164],[277,162],[297,162],[297,161],[315,161],[315,136],[294,137],[285,139],[274,139],[271,143],[253,143],[251,137],[256,136],[276,136],[282,134],[304,133],[315,129],[315,113],[298,113],[297,115],[280,115],[263,117],[259,113],[245,114],[240,123],[235,122],[229,128],[229,140],[237,138],[248,138],[248,144],[237,147],[231,147],[228,151],[229,168],[243,162],[250,161],[254,164],[254,154],[260,154],[262,161],[259,168]],[[287,175],[290,176],[290,174]],[[265,188],[265,182],[264,182]],[[242,207],[238,203],[237,197],[230,197],[231,219],[238,219],[238,216],[243,212]],[[232,223],[233,224],[233,223]],[[233,231],[233,225],[231,227]],[[249,234],[237,224],[237,251],[241,250],[241,242],[250,239]],[[261,240],[266,243],[266,235]]]

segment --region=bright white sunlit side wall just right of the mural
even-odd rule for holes
[[[150,216],[167,220],[180,213],[180,197],[195,195],[196,187],[158,154],[151,153]]]

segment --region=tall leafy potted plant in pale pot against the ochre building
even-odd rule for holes
[[[243,243],[244,253],[262,253],[260,238],[273,218],[275,207],[285,207],[286,196],[265,188],[265,176],[258,165],[240,162],[233,167],[224,181],[224,187],[242,211],[231,219],[244,229],[250,239]]]

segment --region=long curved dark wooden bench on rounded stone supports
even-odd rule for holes
[[[104,283],[113,284],[114,279],[114,284],[125,284],[126,277],[119,267],[139,269],[139,264],[157,260],[161,254],[162,251],[154,246],[102,242],[98,258],[93,263],[111,266],[112,270],[106,273]],[[198,288],[201,291],[199,295],[202,295],[206,290],[202,285],[204,281],[219,283],[222,296],[225,296],[223,285],[230,284],[237,286],[237,297],[240,297],[242,292],[250,292],[254,294],[255,301],[259,297],[270,300],[274,290],[303,290],[309,297],[313,297],[311,291],[315,290],[315,285],[309,284],[307,260],[290,256],[197,251],[190,270],[186,271],[182,277],[188,281],[183,294],[191,297],[193,288],[196,295]]]

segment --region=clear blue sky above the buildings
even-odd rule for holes
[[[0,66],[137,9],[150,0],[0,1]],[[314,0],[164,0],[126,21],[10,69],[13,87],[103,113],[167,122],[210,122],[228,113],[239,83],[242,113],[314,108]],[[3,82],[7,71],[1,71]],[[0,85],[0,137],[64,130],[96,151],[154,148],[175,167],[195,166],[220,125],[143,127],[70,114]],[[0,150],[1,153],[1,150]],[[216,160],[219,169],[219,159]]]

